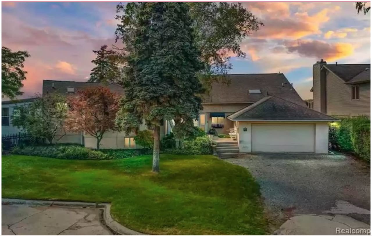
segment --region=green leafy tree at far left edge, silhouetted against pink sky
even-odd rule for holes
[[[22,95],[20,88],[23,87],[22,80],[26,79],[26,71],[23,63],[30,54],[27,51],[12,52],[9,48],[1,48],[1,97],[7,96],[15,99]]]

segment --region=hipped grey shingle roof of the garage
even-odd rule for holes
[[[277,96],[267,96],[227,117],[232,121],[336,121],[328,115],[286,101]]]

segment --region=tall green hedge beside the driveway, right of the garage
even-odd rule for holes
[[[342,152],[356,154],[363,160],[371,160],[371,121],[367,117],[341,118],[329,126],[332,147]]]

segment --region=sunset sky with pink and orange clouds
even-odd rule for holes
[[[2,46],[31,54],[24,94],[42,92],[43,80],[87,81],[92,50],[115,43],[117,3],[2,3]],[[229,74],[284,73],[302,99],[312,99],[312,65],[371,63],[370,13],[355,3],[243,3],[264,23],[231,55]],[[5,100],[5,99],[4,99]]]

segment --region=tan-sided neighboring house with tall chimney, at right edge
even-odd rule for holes
[[[314,110],[331,116],[371,117],[371,64],[327,64],[312,67]]]

